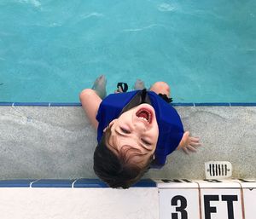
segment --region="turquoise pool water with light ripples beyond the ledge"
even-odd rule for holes
[[[256,101],[256,1],[1,0],[0,101],[79,101],[96,76],[175,102]]]

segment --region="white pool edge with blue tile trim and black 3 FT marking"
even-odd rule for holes
[[[99,180],[0,181],[1,218],[253,219],[255,180],[143,180],[129,189]]]

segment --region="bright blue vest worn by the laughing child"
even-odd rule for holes
[[[97,129],[97,141],[100,142],[103,130],[114,119],[119,118],[120,112],[137,94],[138,90],[108,95],[102,100],[96,119],[99,122]],[[151,106],[154,107],[159,126],[159,138],[154,152],[153,167],[161,167],[166,163],[166,156],[172,153],[183,137],[183,124],[177,111],[159,95],[148,91]]]

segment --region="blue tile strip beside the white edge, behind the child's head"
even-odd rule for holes
[[[0,187],[108,187],[99,179],[76,179],[76,180],[55,180],[55,179],[27,179],[27,180],[2,180]],[[150,179],[143,179],[132,187],[156,187],[156,183]]]

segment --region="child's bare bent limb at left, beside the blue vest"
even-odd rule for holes
[[[90,120],[90,123],[95,129],[98,128],[98,121],[96,120],[96,114],[102,102],[102,99],[96,94],[93,89],[84,89],[80,95],[80,101],[82,107]]]

